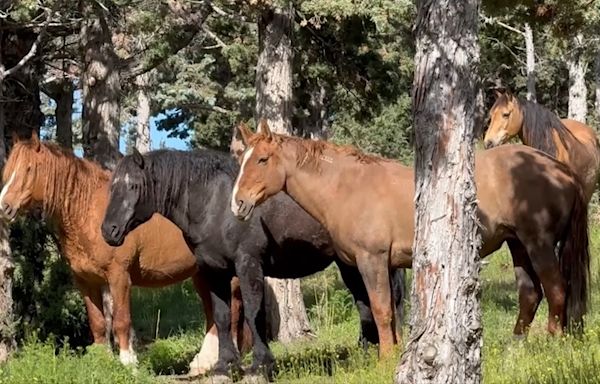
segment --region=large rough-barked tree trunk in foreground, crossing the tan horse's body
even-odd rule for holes
[[[473,153],[479,5],[418,2],[411,337],[397,383],[481,382]]]

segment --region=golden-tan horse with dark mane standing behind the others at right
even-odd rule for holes
[[[523,144],[569,165],[583,182],[589,202],[600,174],[600,144],[591,127],[561,120],[544,106],[520,100],[509,91],[496,91],[484,145],[495,147],[515,136]]]

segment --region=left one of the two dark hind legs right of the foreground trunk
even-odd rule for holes
[[[513,333],[516,336],[522,336],[529,330],[542,301],[542,286],[523,244],[519,240],[509,240],[507,243],[512,255],[519,290],[519,317]]]

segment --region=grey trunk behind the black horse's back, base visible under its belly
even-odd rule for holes
[[[292,132],[293,6],[262,12],[258,21],[259,56],[256,66],[256,120],[267,119],[278,133]],[[270,335],[282,342],[310,331],[300,280],[266,278],[265,305]]]

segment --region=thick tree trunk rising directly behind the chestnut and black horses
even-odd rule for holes
[[[102,7],[85,0],[80,7],[84,156],[113,169],[120,158],[118,57]]]

